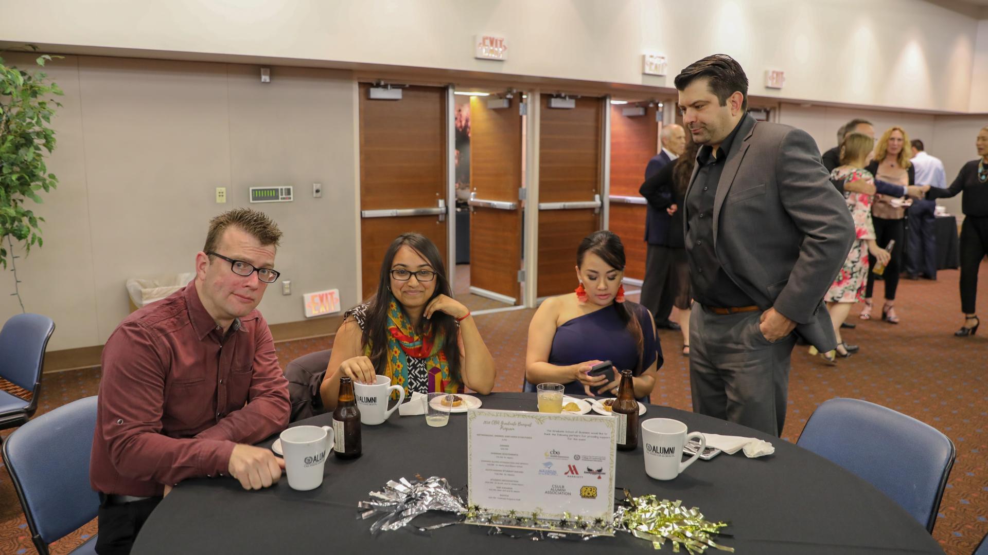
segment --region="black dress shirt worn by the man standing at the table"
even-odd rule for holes
[[[690,261],[690,281],[694,297],[704,306],[720,308],[751,306],[751,299],[727,276],[713,249],[713,200],[717,195],[717,183],[724,171],[724,163],[731,146],[747,119],[745,116],[720,143],[716,156],[708,145],[697,153],[697,177],[687,194],[690,210],[686,228],[686,252]],[[754,119],[752,119],[754,124]]]

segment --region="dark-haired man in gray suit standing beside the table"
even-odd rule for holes
[[[694,411],[779,436],[793,332],[837,346],[823,295],[855,239],[844,198],[800,129],[748,116],[748,78],[724,54],[676,77],[702,145],[684,202],[698,309],[690,320]]]

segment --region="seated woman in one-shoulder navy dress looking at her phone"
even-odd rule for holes
[[[648,397],[662,366],[655,322],[644,306],[624,299],[624,247],[610,231],[585,238],[576,254],[572,293],[549,297],[529,325],[525,377],[532,384],[555,382],[569,395],[617,395],[620,370],[634,375],[634,396]],[[603,360],[615,379],[590,376]]]

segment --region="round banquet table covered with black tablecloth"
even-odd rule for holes
[[[479,398],[481,408],[535,411],[534,393]],[[741,452],[721,453],[696,461],[675,480],[664,482],[645,474],[639,442],[634,451],[617,451],[616,498],[626,488],[634,496],[682,500],[687,507],[700,508],[708,520],[729,521],[724,531],[733,537],[715,541],[739,554],[943,553],[926,528],[895,502],[818,455],[778,437],[669,407],[649,405],[641,419],[659,417],[682,421],[691,432],[766,439],[776,452],[753,459]],[[326,414],[292,426],[331,421],[332,415]],[[133,553],[652,551],[648,541],[624,532],[589,541],[531,541],[489,536],[487,526],[456,524],[427,534],[406,528],[371,535],[376,516],[359,519],[357,503],[368,500],[368,493],[381,490],[388,480],[414,480],[420,474],[447,478],[454,488],[466,485],[466,415],[453,414],[445,428],[430,428],[425,417],[400,417],[395,411],[384,424],[363,428],[363,449],[364,454],[354,460],[328,457],[322,486],[308,492],[292,490],[284,477],[274,487],[252,492],[231,478],[182,482],[148,518]],[[415,523],[429,525],[451,516],[430,513]],[[667,543],[663,551],[669,549]]]

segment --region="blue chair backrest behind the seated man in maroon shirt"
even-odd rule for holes
[[[42,547],[92,520],[99,495],[89,485],[96,397],[58,407],[29,421],[3,443],[32,538]]]

